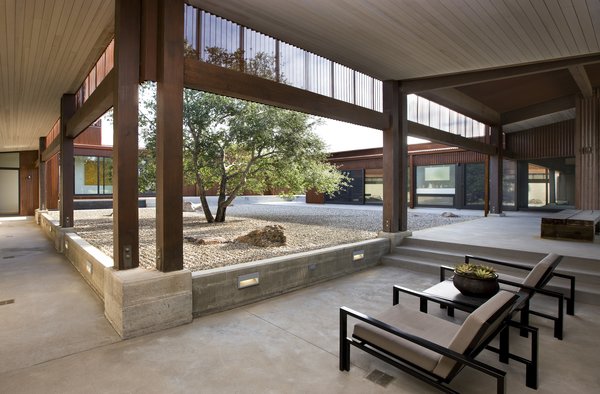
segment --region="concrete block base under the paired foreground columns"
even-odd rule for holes
[[[107,268],[104,314],[123,339],[190,323],[192,273]]]

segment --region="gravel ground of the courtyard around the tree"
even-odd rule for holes
[[[235,204],[235,203],[234,203]],[[75,211],[75,231],[112,257],[112,210]],[[408,214],[408,229],[417,231],[477,216],[444,217],[439,213]],[[58,212],[51,212],[58,218]],[[184,237],[223,237],[228,242],[198,245],[184,241],[184,267],[199,271],[248,261],[320,249],[375,238],[381,230],[381,207],[314,206],[303,203],[240,204],[227,210],[225,223],[208,224],[200,212],[184,212]],[[140,266],[155,269],[155,209],[140,208]],[[241,235],[267,225],[284,227],[285,246],[257,247],[233,242]]]

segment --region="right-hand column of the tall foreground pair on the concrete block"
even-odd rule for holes
[[[183,0],[158,2],[156,268],[183,269]]]

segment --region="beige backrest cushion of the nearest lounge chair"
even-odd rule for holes
[[[483,325],[489,321],[489,319],[501,309],[506,303],[511,302],[513,298],[513,294],[507,291],[499,291],[495,296],[486,301],[479,308],[475,309],[464,321],[464,323],[460,326],[458,332],[454,335],[450,344],[448,346],[449,349],[454,350],[457,353],[464,353],[467,349],[472,349],[474,347],[474,339]],[[489,334],[491,334],[498,325],[504,320],[504,318],[508,315],[509,309],[505,311],[503,315],[501,315],[498,319],[494,320],[489,327],[487,327],[484,335],[480,338],[478,343],[487,338]],[[441,357],[438,365],[433,369],[433,373],[437,376],[445,378],[452,371],[456,362],[449,357]]]

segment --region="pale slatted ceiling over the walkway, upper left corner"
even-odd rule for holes
[[[37,149],[112,36],[105,0],[0,2],[0,151]]]

